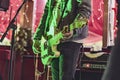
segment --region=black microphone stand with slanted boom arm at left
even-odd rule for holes
[[[13,79],[13,68],[14,68],[14,55],[13,55],[13,51],[14,51],[14,34],[15,34],[15,30],[17,29],[17,25],[14,24],[16,17],[19,13],[19,11],[21,10],[22,6],[25,4],[27,0],[24,0],[23,3],[20,5],[20,7],[18,8],[15,16],[13,17],[13,19],[11,20],[11,22],[9,23],[5,33],[3,34],[3,36],[0,39],[0,42],[3,41],[3,39],[5,38],[5,36],[7,35],[8,31],[10,29],[12,29],[12,40],[11,40],[11,47],[10,47],[10,65],[9,65],[9,80],[14,80]]]

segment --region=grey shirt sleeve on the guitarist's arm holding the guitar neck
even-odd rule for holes
[[[78,3],[78,14],[79,17],[89,19],[91,16],[91,0],[82,0]],[[79,18],[78,17],[78,18]],[[70,40],[81,40],[88,36],[88,24],[84,25],[82,28],[77,28],[73,30],[73,36]]]

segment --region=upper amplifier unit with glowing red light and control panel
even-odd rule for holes
[[[89,53],[85,52],[81,56],[80,69],[87,71],[103,72],[106,68],[109,54],[104,52]]]

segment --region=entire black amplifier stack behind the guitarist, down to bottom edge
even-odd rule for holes
[[[109,54],[104,52],[82,53],[76,70],[75,80],[101,80],[108,58]]]

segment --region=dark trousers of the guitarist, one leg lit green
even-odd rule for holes
[[[51,63],[52,80],[74,80],[81,43],[65,42],[58,45],[59,58]]]

